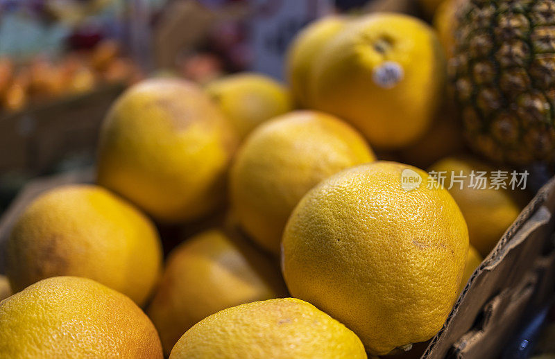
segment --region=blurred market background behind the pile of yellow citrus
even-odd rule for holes
[[[112,100],[146,76],[283,77],[300,28],[410,0],[0,0],[0,211],[31,177],[92,164]]]

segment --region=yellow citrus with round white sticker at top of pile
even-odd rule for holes
[[[445,87],[445,59],[434,29],[400,14],[369,15],[333,28],[325,32],[325,46],[316,46],[317,35],[305,40],[316,49],[305,80],[311,107],[355,125],[376,148],[398,149],[422,137]],[[306,60],[297,57],[289,62],[289,78],[304,72],[296,66]]]

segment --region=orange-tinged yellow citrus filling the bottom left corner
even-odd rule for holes
[[[0,354],[10,359],[162,359],[152,322],[91,279],[53,277],[0,302]]]

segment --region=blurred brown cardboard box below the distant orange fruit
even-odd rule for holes
[[[99,129],[123,85],[0,115],[0,173],[40,174],[68,154],[94,155]]]

